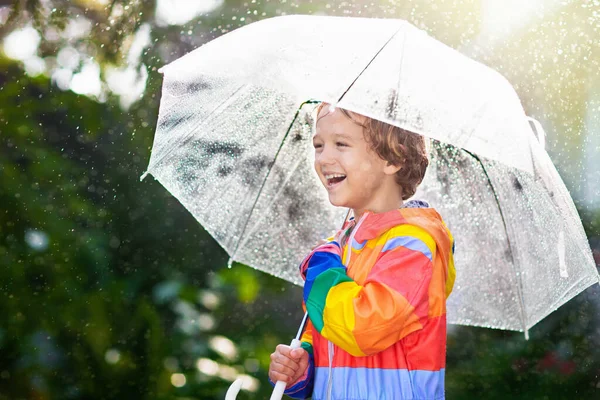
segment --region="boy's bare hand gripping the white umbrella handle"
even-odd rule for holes
[[[280,344],[271,354],[269,378],[273,382],[284,381],[287,385],[296,382],[308,368],[308,353],[303,348],[293,349]]]

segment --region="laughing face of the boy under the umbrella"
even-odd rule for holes
[[[365,117],[354,114],[353,118],[362,123]],[[399,168],[369,148],[357,122],[325,105],[317,116],[313,146],[315,170],[331,204],[361,215],[365,210],[378,212],[383,203],[398,197],[393,175]]]

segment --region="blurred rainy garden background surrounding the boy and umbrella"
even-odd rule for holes
[[[0,399],[269,396],[300,288],[139,177],[158,68],[286,14],[406,19],[506,76],[600,265],[600,1],[0,0]],[[450,326],[447,398],[600,398],[598,285],[530,335]]]

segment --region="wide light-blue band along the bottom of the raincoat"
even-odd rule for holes
[[[409,371],[406,369],[350,368],[332,369],[331,400],[441,400],[445,370]],[[328,368],[315,371],[313,400],[327,398]]]

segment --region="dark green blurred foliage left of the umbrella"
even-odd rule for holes
[[[0,81],[0,101],[12,104],[0,114],[0,398],[221,398],[227,381],[196,382],[197,358],[234,361],[207,346],[214,332],[235,337],[239,362],[257,360],[264,394],[268,354],[294,329],[275,331],[272,319],[263,328],[262,316],[244,322],[252,310],[236,310],[229,293],[254,304],[282,285],[228,270],[162,186],[139,182],[152,137],[139,115],[156,115],[157,100],[123,114],[15,66]],[[207,309],[199,289],[211,285],[221,300]],[[185,321],[204,314],[209,329]],[[181,390],[170,382],[176,372],[188,376]]]

